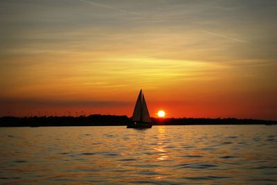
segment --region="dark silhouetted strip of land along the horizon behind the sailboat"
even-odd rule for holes
[[[238,118],[151,118],[152,125],[276,125],[277,121]],[[0,117],[0,127],[118,126],[132,123],[127,116],[92,114],[89,116]]]

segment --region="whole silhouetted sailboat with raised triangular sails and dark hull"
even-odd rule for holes
[[[148,107],[145,102],[143,95],[143,90],[139,92],[138,99],[136,100],[136,105],[134,106],[134,112],[132,116],[132,123],[127,125],[127,128],[151,128],[151,118],[148,112]]]

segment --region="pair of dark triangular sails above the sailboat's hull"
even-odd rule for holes
[[[136,106],[134,107],[132,120],[136,122],[142,122],[142,123],[151,122],[151,118],[148,112],[148,107],[146,105],[142,90],[139,92],[139,97],[136,100]]]

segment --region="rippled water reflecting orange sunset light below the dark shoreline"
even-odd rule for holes
[[[1,127],[0,184],[277,184],[276,125]]]

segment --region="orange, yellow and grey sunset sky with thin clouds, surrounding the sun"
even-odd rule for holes
[[[132,116],[143,89],[153,117],[277,120],[276,19],[274,0],[1,0],[0,116]]]

